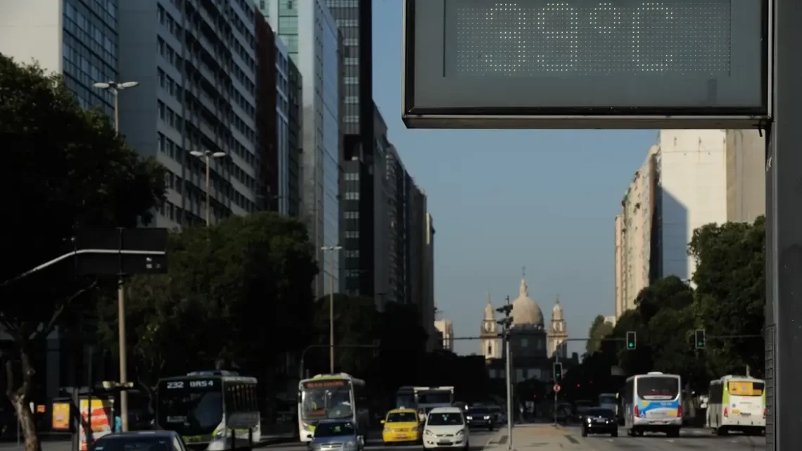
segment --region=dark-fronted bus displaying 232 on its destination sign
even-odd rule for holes
[[[220,370],[160,379],[156,426],[189,449],[251,449],[261,440],[257,380]]]

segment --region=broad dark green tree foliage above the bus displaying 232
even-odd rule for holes
[[[220,362],[269,387],[279,356],[309,343],[318,268],[300,222],[254,213],[189,227],[171,235],[169,257],[168,274],[127,284],[128,349],[143,388]],[[99,335],[115,349],[111,307],[101,305]]]

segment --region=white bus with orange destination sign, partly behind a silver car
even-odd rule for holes
[[[321,420],[354,421],[359,435],[367,441],[370,430],[370,401],[365,381],[341,372],[318,374],[298,383],[298,433],[301,441],[314,437],[314,428]]]

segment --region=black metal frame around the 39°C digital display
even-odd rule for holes
[[[760,108],[421,108],[415,106],[415,4],[404,0],[402,120],[407,128],[452,129],[719,129],[768,128],[772,121],[773,0],[763,4],[763,75]],[[651,111],[649,111],[651,110]],[[758,111],[759,110],[759,111]]]

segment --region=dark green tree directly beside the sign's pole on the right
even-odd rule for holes
[[[699,324],[710,337],[705,356],[713,375],[764,374],[763,339],[715,337],[759,335],[764,330],[765,234],[762,216],[753,224],[708,224],[694,230],[688,246],[696,261],[695,306]]]

